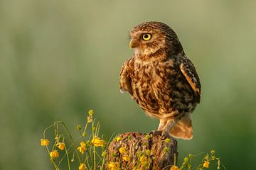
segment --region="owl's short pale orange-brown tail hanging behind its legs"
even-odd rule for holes
[[[181,118],[181,120],[171,128],[171,136],[183,140],[191,140],[193,138],[191,113]]]

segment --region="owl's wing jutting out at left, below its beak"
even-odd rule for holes
[[[120,92],[123,94],[124,91],[128,91],[129,94],[133,94],[132,92],[132,84],[131,84],[131,77],[130,77],[130,72],[132,72],[132,68],[130,66],[131,64],[131,59],[127,60],[126,62],[124,62],[124,64],[122,65],[122,69],[120,72],[120,77],[119,77],[119,89]]]

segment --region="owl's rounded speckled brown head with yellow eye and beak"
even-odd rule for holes
[[[176,33],[164,23],[155,21],[140,23],[131,30],[130,38],[129,46],[137,57],[170,57],[182,52]]]

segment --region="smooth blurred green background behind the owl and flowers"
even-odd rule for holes
[[[255,169],[255,1],[0,1],[0,169],[53,169],[40,146],[63,120],[75,132],[93,108],[101,130],[150,132],[158,120],[119,93],[129,30],[173,28],[201,78],[194,138],[179,159],[215,149],[227,169]]]

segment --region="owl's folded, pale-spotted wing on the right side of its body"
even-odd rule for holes
[[[200,84],[198,74],[196,73],[196,68],[193,66],[192,62],[186,58],[186,60],[181,62],[180,69],[182,74],[188,81],[188,84],[193,89],[194,94],[196,96],[197,103],[200,103],[201,84]]]

